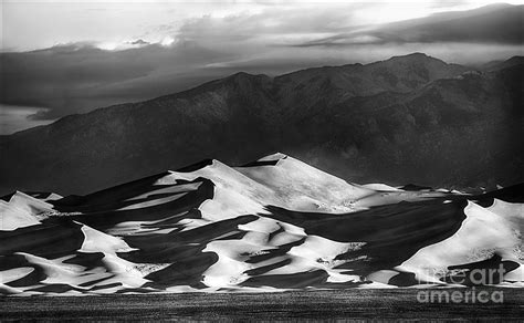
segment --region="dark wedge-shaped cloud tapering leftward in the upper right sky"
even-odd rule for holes
[[[347,46],[363,43],[495,43],[522,45],[524,6],[493,4],[394,22],[365,31],[339,33],[298,46]]]

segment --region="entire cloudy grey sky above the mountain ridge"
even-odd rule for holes
[[[469,13],[493,1],[1,1],[0,134],[239,71],[523,54],[522,7]]]

